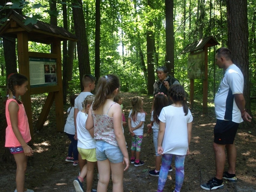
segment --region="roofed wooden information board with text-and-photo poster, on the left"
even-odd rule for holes
[[[64,128],[64,111],[61,41],[77,41],[77,38],[61,27],[41,21],[37,21],[36,24],[24,25],[24,19],[29,17],[13,10],[6,17],[8,20],[0,26],[0,35],[17,38],[19,73],[25,75],[29,81],[28,91],[21,99],[29,120],[32,141],[31,95],[33,94],[48,93],[35,129],[42,129],[53,101],[55,101],[56,128],[57,131],[62,132]],[[52,44],[52,51],[51,53],[30,52],[28,41]]]

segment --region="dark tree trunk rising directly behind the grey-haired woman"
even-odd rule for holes
[[[173,0],[165,0],[165,44],[166,68],[174,77],[174,31],[173,31]]]

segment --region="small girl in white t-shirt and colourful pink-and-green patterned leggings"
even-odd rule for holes
[[[141,97],[133,97],[132,106],[133,107],[128,116],[129,131],[132,135],[131,163],[134,163],[134,166],[137,167],[144,165],[144,161],[141,161],[139,159],[139,155],[141,151],[141,143],[146,113],[143,110],[143,101]],[[136,155],[136,159],[134,155]]]

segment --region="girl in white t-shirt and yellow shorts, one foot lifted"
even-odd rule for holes
[[[75,190],[77,192],[83,191],[83,181],[86,177],[86,192],[96,192],[92,189],[93,184],[93,171],[97,162],[96,159],[96,141],[93,138],[93,130],[86,130],[85,124],[88,117],[90,106],[95,99],[94,95],[88,95],[82,103],[83,109],[78,112],[76,117],[77,129],[77,148],[79,152],[79,164],[84,166],[81,169],[80,175],[73,181]],[[85,164],[87,161],[87,164]]]

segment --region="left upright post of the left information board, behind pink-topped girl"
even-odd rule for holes
[[[30,93],[30,78],[29,78],[29,46],[28,46],[28,33],[17,33],[17,47],[18,47],[18,66],[19,73],[25,75],[28,78],[28,91],[25,95],[21,96],[28,121],[29,131],[31,135],[31,142],[34,140],[33,124],[32,124],[32,106],[31,106],[31,93]]]

